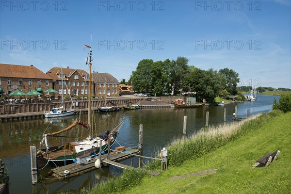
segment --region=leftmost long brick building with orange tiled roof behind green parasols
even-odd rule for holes
[[[52,88],[52,79],[33,65],[0,64],[1,95],[9,95],[16,90],[24,93],[36,90],[42,93],[49,88]]]

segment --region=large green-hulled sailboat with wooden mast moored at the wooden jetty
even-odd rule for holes
[[[70,126],[65,129],[62,129],[57,132],[43,134],[42,140],[40,142],[40,148],[37,153],[37,162],[38,166],[61,166],[66,165],[72,162],[78,162],[78,159],[81,157],[94,157],[99,154],[99,151],[106,151],[108,149],[108,145],[110,147],[113,146],[114,142],[116,141],[116,137],[118,131],[124,122],[120,122],[114,129],[107,130],[103,134],[96,135],[96,137],[92,134],[92,127],[91,127],[91,65],[92,65],[92,50],[90,48],[90,56],[89,56],[89,102],[88,102],[88,123],[85,123],[81,120],[74,121]],[[86,63],[87,64],[87,63]],[[50,146],[48,143],[48,137],[66,137],[60,136],[59,134],[73,129],[73,127],[81,125],[85,129],[88,129],[88,136],[87,137],[78,137],[82,138],[82,141],[73,141],[73,142],[66,142],[65,145],[61,146]],[[77,137],[74,137],[77,138]],[[45,147],[41,148],[42,144],[45,144]],[[101,147],[100,147],[101,143]],[[99,150],[101,148],[101,150]]]

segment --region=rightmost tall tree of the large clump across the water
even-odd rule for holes
[[[232,69],[224,68],[219,70],[225,77],[225,89],[231,95],[236,95],[238,93],[237,84],[240,82],[239,74]]]

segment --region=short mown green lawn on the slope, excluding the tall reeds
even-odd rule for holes
[[[240,138],[209,154],[188,160],[179,167],[169,167],[158,177],[146,177],[124,194],[192,194],[192,193],[289,193],[291,190],[291,113],[272,117],[274,112],[250,122]],[[255,128],[252,125],[257,125]],[[268,152],[280,149],[277,161],[268,167],[251,166]],[[167,180],[208,169],[211,175]]]

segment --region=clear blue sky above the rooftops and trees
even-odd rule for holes
[[[118,80],[139,61],[187,57],[231,68],[240,85],[291,88],[291,1],[0,0],[0,63],[84,69]]]

